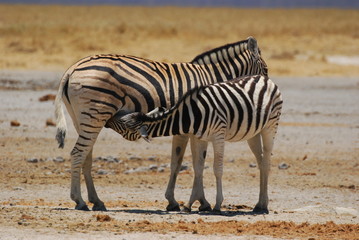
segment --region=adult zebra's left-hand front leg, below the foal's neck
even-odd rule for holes
[[[168,181],[165,197],[168,200],[167,211],[180,211],[178,202],[174,197],[177,175],[181,169],[183,155],[188,143],[188,136],[174,136],[172,141],[171,175]]]

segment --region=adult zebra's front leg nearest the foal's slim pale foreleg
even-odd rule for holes
[[[194,180],[191,197],[188,204],[184,206],[184,210],[187,212],[191,211],[192,204],[198,200],[201,203],[199,211],[211,211],[211,205],[204,196],[203,188],[203,170],[204,162],[207,154],[208,142],[201,141],[197,138],[191,138],[191,151],[194,169]]]

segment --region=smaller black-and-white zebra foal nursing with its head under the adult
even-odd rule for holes
[[[278,87],[268,77],[257,75],[192,89],[169,110],[157,108],[147,114],[118,113],[107,125],[124,131],[123,137],[131,141],[141,137],[148,141],[153,137],[189,135],[198,138],[199,144],[212,142],[217,184],[214,211],[220,211],[223,201],[224,143],[247,140],[260,170],[259,201],[253,211],[268,213],[270,158],[281,108]],[[206,153],[198,154],[200,162],[193,164],[198,164],[201,172],[194,180],[190,200],[185,206],[189,211],[196,200],[201,202],[200,210],[210,209],[202,180]]]

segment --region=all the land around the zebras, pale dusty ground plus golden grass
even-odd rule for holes
[[[0,5],[0,239],[359,239],[358,28],[358,11],[336,9]],[[109,211],[73,210],[77,136],[68,119],[58,149],[53,102],[39,101],[55,94],[70,64],[109,52],[189,61],[250,35],[284,97],[269,215],[251,213],[259,173],[246,143],[226,145],[222,215],[199,213],[198,204],[169,213],[170,139],[133,144],[108,129],[93,174]],[[213,204],[211,151],[204,181]],[[175,192],[182,202],[193,178],[189,151],[184,165]]]

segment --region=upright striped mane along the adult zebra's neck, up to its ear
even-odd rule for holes
[[[248,37],[246,40],[242,40],[242,41],[235,42],[235,43],[229,43],[229,44],[226,44],[224,46],[217,47],[217,48],[211,49],[211,50],[209,50],[207,52],[204,52],[204,53],[196,56],[191,61],[191,63],[193,63],[193,64],[208,64],[208,63],[210,63],[210,62],[208,62],[208,60],[211,60],[212,63],[215,63],[218,60],[217,60],[217,58],[216,59],[211,58],[211,55],[213,53],[215,53],[215,54],[221,53],[222,54],[223,51],[226,51],[226,50],[228,50],[230,48],[235,48],[236,46],[240,46],[242,44],[246,44],[245,48],[250,50],[256,56],[259,57],[260,50],[259,50],[259,48],[257,46],[257,40],[254,37]],[[206,57],[208,57],[207,61],[205,60]]]

